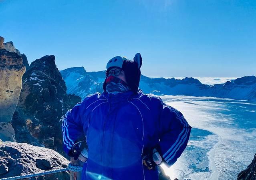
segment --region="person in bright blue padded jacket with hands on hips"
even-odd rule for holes
[[[171,166],[187,146],[191,127],[181,112],[139,89],[141,64],[139,53],[112,58],[103,93],[63,116],[64,150],[84,157],[84,180],[157,180],[156,166]],[[74,148],[81,139],[87,151]]]

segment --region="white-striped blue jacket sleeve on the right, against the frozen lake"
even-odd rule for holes
[[[163,102],[162,102],[163,103]],[[171,166],[181,156],[187,146],[191,126],[175,108],[163,103],[160,115],[159,148],[167,166]]]

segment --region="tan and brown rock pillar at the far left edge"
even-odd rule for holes
[[[10,122],[20,96],[21,79],[26,68],[20,54],[5,49],[11,48],[13,44],[6,45],[3,42],[4,38],[0,37],[0,139],[15,141]]]

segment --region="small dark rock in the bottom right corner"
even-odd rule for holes
[[[256,154],[254,155],[254,159],[252,163],[240,172],[237,176],[237,180],[256,180]]]

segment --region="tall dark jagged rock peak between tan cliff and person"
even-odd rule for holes
[[[62,154],[60,118],[81,98],[67,95],[54,60],[54,56],[37,59],[24,73],[12,126],[17,142],[44,146]]]

